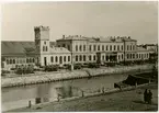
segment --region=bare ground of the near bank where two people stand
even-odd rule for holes
[[[145,89],[152,92],[152,103],[144,103]],[[150,83],[129,91],[50,102],[45,105],[22,108],[8,112],[68,112],[68,111],[157,111],[158,84]]]

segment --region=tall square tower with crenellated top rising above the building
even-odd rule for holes
[[[37,52],[37,64],[41,66],[48,65],[49,60],[49,27],[35,26],[35,48]]]

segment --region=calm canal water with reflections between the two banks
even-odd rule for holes
[[[75,79],[25,87],[2,88],[2,111],[27,106],[39,102],[57,101],[57,97],[71,98],[113,89],[114,82],[122,81],[128,75],[107,75],[94,78]]]

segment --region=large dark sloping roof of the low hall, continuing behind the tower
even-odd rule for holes
[[[50,42],[50,46],[55,44]],[[2,41],[1,55],[27,55],[36,54],[34,42]]]

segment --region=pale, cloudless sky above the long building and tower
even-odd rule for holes
[[[63,35],[130,36],[158,42],[157,1],[14,2],[1,5],[2,41],[34,41],[34,26],[49,26],[50,41]]]

